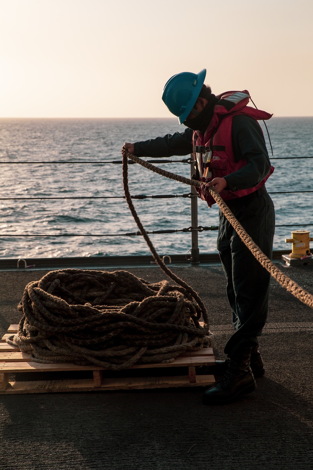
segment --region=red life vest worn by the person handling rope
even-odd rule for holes
[[[244,158],[235,162],[231,132],[233,117],[244,114],[257,121],[273,116],[266,111],[247,106],[249,97],[247,90],[229,91],[218,95],[217,98],[220,98],[220,101],[214,106],[214,115],[206,132],[204,134],[199,131],[193,132],[193,157],[199,173],[198,180],[208,182],[216,177],[223,178],[247,164]],[[224,201],[247,196],[261,188],[273,172],[274,167],[271,166],[268,175],[254,188],[240,189],[239,191],[236,191],[235,187],[231,188],[232,191],[223,189],[220,196]],[[215,203],[212,196],[204,196],[200,188],[196,189],[199,195],[205,198],[209,207]]]

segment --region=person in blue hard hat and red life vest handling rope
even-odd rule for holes
[[[168,110],[186,126],[182,133],[168,134],[142,142],[125,142],[137,157],[172,157],[193,154],[193,178],[203,182],[197,188],[211,207],[214,187],[246,232],[272,257],[275,231],[274,204],[265,181],[274,171],[262,129],[257,122],[271,114],[247,106],[249,93],[230,91],[215,96],[204,85],[206,69],[198,74],[183,72],[171,77],[162,100]],[[234,333],[224,352],[228,358],[216,361],[216,373],[223,378],[209,390],[208,405],[228,403],[256,389],[255,376],[264,374],[258,337],[267,319],[270,274],[246,248],[219,212],[217,249],[227,278],[226,293],[232,310]]]

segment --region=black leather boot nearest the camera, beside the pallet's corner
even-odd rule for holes
[[[224,377],[203,394],[205,405],[223,405],[257,388],[249,366],[252,348],[242,348],[228,361]]]

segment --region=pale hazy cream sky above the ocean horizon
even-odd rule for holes
[[[169,117],[207,69],[276,116],[313,116],[312,0],[0,0],[1,117]]]

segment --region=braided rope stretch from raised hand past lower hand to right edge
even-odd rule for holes
[[[161,168],[158,168],[149,162],[145,162],[141,158],[131,154],[124,147],[122,148],[122,155],[123,157],[130,158],[131,160],[144,166],[145,168],[162,176],[166,176],[171,180],[176,180],[189,186],[194,186],[195,188],[201,187],[200,181],[190,180],[189,178],[184,178],[181,175],[176,175],[175,173],[162,170]],[[247,232],[244,230],[244,227],[242,227],[242,225],[238,222],[234,214],[229,210],[229,207],[222,200],[221,196],[215,191],[214,188],[210,188],[209,190],[226,219],[228,219],[229,223],[232,225],[232,227],[234,227],[241,240],[244,242],[246,247],[252,252],[252,255],[259,261],[261,266],[263,266],[276,279],[276,281],[279,282],[281,286],[288,290],[293,296],[298,298],[305,305],[308,305],[309,307],[313,308],[312,294],[302,289],[302,287],[300,287],[297,282],[292,281],[288,276],[283,274],[282,271],[278,269],[278,267],[275,266],[275,264],[272,263],[269,258],[267,258],[263,251],[260,250],[258,245],[253,242],[251,236],[247,234]]]

